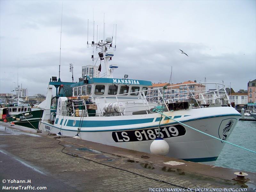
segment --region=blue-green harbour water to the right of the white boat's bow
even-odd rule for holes
[[[256,151],[256,122],[238,121],[228,141]],[[215,166],[256,172],[256,154],[226,143]]]

